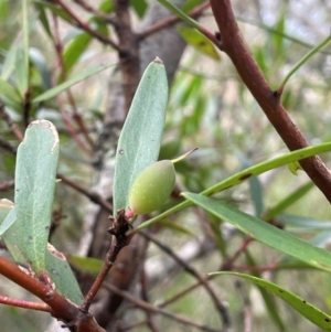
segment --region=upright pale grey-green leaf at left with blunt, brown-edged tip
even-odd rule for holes
[[[58,160],[58,136],[46,120],[33,121],[20,143],[15,168],[17,222],[12,239],[35,272],[45,270]]]

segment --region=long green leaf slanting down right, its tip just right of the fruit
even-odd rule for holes
[[[331,271],[330,251],[314,247],[313,245],[220,200],[192,193],[183,193],[183,196],[265,245],[284,254],[293,256],[311,266]]]

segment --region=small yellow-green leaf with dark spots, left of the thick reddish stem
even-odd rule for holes
[[[189,45],[214,60],[221,58],[214,44],[197,30],[183,25],[179,25],[178,30]]]

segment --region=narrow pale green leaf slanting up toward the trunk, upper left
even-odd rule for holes
[[[51,99],[51,98],[55,97],[56,95],[58,95],[60,93],[67,89],[68,87],[75,85],[76,83],[78,83],[89,76],[93,76],[99,72],[103,72],[103,71],[109,68],[110,66],[113,66],[113,64],[108,63],[105,65],[97,65],[97,66],[89,67],[85,71],[82,71],[81,73],[73,75],[66,82],[63,82],[62,84],[57,85],[56,87],[53,87],[53,88],[49,89],[47,92],[39,95],[38,97],[35,97],[32,100],[32,103],[40,103],[43,100]]]

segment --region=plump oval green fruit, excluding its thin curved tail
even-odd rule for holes
[[[170,160],[161,160],[146,168],[135,180],[129,205],[135,215],[162,207],[174,186],[175,172]]]

